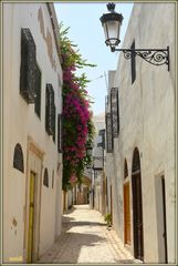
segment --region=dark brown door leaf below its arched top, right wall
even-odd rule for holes
[[[133,221],[134,221],[134,256],[144,260],[143,239],[143,202],[140,172],[133,173]]]

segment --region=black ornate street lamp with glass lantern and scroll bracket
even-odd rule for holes
[[[111,48],[111,51],[122,51],[125,59],[138,55],[154,65],[167,64],[169,71],[169,47],[167,49],[117,49],[124,18],[121,13],[115,12],[115,3],[108,3],[107,9],[109,13],[104,13],[101,17],[101,22],[104,28],[105,43]]]

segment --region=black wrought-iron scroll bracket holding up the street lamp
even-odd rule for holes
[[[169,47],[167,49],[115,49],[111,48],[112,52],[122,51],[124,58],[129,60],[138,55],[148,63],[154,65],[167,64],[169,71]]]

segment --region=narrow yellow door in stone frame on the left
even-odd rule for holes
[[[28,263],[32,263],[33,260],[34,188],[35,188],[35,174],[31,172],[30,173],[30,202],[29,202]]]

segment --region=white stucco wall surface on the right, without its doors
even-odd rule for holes
[[[156,178],[165,175],[168,262],[175,262],[175,3],[135,3],[123,48],[170,49],[170,71],[136,58],[136,80],[132,84],[130,62],[123,53],[114,79],[118,86],[121,130],[115,140],[113,171],[114,227],[124,239],[124,160],[132,182],[133,152],[140,154],[144,262],[163,262],[158,252]],[[108,155],[111,156],[111,155]],[[108,168],[111,163],[108,162]],[[109,175],[109,171],[108,175]],[[112,176],[112,175],[111,175]],[[161,204],[161,202],[160,202]],[[132,209],[130,191],[130,218]],[[133,221],[130,221],[133,224]],[[133,226],[132,245],[133,246]]]

